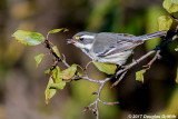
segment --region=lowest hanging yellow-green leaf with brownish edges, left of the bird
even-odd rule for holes
[[[52,78],[49,78],[49,82],[47,85],[44,95],[46,95],[46,103],[48,105],[49,100],[56,95],[57,89],[51,89],[50,86],[53,83]]]

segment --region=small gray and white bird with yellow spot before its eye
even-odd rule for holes
[[[93,61],[122,66],[137,46],[164,36],[165,30],[138,37],[129,33],[81,31],[67,39],[67,42],[80,48]]]

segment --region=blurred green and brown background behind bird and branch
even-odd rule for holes
[[[62,91],[44,103],[48,76],[43,71],[52,63],[46,58],[36,68],[33,57],[48,53],[42,46],[24,47],[11,34],[16,30],[47,34],[51,29],[68,28],[69,32],[50,36],[50,40],[66,54],[67,61],[87,65],[90,59],[72,44],[67,44],[79,31],[122,32],[135,36],[158,31],[157,19],[167,14],[162,0],[0,0],[0,119],[93,119],[91,112],[81,112],[92,102],[98,86],[85,80],[68,83]],[[178,17],[178,14],[174,14]],[[138,47],[137,59],[161,42],[152,39]],[[100,105],[101,119],[127,119],[135,115],[175,115],[178,117],[177,41],[162,49],[157,60],[145,73],[145,83],[135,80],[135,72],[150,59],[132,68],[113,89],[108,83],[101,98],[119,101],[116,106]],[[130,60],[131,61],[131,60]],[[92,65],[88,75],[103,79]],[[178,81],[178,78],[177,78]]]

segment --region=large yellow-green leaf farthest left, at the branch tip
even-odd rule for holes
[[[16,31],[12,37],[14,37],[17,41],[26,46],[37,46],[44,41],[44,37],[41,33],[29,32],[24,30]]]

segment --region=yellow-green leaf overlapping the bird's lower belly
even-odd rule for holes
[[[113,75],[116,72],[117,66],[116,65],[109,65],[109,63],[102,63],[93,61],[93,65],[102,72],[107,75]]]

